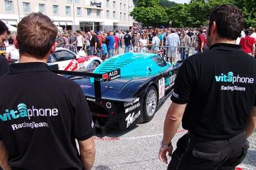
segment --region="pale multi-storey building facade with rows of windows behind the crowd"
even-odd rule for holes
[[[31,12],[48,15],[65,30],[105,31],[129,29],[132,0],[0,0],[0,19],[17,26]]]

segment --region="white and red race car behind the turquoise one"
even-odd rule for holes
[[[55,52],[49,56],[48,65],[58,64],[59,70],[83,72],[94,69],[102,63],[102,59],[95,55],[79,56],[63,47],[56,47]]]

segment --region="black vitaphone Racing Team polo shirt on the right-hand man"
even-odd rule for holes
[[[244,131],[255,104],[256,60],[239,45],[215,44],[182,64],[171,100],[187,104],[185,129],[227,139]]]

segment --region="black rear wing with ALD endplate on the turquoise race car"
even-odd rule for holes
[[[93,77],[95,98],[102,98],[102,92],[101,92],[101,86],[100,86],[101,81],[102,83],[105,83],[111,80],[115,80],[118,77],[121,77],[120,69],[116,69],[111,72],[105,72],[104,74],[96,74],[92,72],[69,72],[69,71],[62,71],[62,70],[56,70],[56,69],[52,69],[52,71],[56,74],[71,75],[71,76],[78,76],[78,77]],[[72,80],[72,78],[70,79]]]

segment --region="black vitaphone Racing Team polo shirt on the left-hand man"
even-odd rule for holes
[[[0,140],[12,169],[83,169],[75,139],[89,139],[94,128],[79,85],[46,63],[14,63],[0,94]]]

